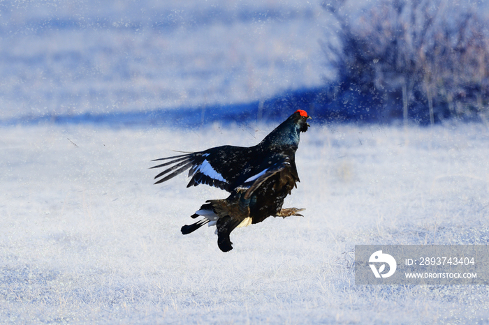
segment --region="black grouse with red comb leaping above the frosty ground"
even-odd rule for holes
[[[232,250],[229,235],[236,227],[265,220],[269,216],[302,216],[304,209],[282,209],[284,198],[299,180],[295,167],[295,151],[301,132],[306,132],[311,117],[298,109],[256,146],[217,146],[205,151],[155,159],[168,160],[152,168],[170,166],[154,179],[155,184],[168,181],[189,170],[189,186],[207,184],[231,195],[226,199],[211,199],[192,218],[204,218],[182,227],[189,234],[203,225],[216,225],[217,244],[223,252]]]

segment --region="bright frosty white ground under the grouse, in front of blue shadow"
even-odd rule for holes
[[[488,244],[483,125],[314,126],[285,206],[304,218],[180,227],[217,189],[149,160],[256,144],[272,126],[0,129],[0,322],[487,322],[486,286],[356,286],[356,244]]]

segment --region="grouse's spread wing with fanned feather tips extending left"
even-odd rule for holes
[[[190,169],[189,177],[191,179],[187,188],[198,186],[198,184],[207,184],[231,192],[242,168],[248,162],[249,151],[249,148],[240,146],[217,146],[205,151],[152,160],[168,161],[151,168],[169,166],[154,177],[154,179],[162,177],[155,184],[173,179],[178,174]]]

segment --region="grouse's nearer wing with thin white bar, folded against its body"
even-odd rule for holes
[[[295,183],[300,181],[293,158],[282,153],[273,153],[263,159],[258,169],[251,174],[248,173],[247,179],[242,181],[236,189],[246,191],[244,198],[249,199],[255,190],[276,174],[280,176],[276,184],[279,188],[285,186],[286,183],[289,183],[291,188],[297,187]]]

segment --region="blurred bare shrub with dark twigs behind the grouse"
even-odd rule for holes
[[[340,44],[323,43],[337,70],[335,96],[356,91],[390,117],[430,121],[485,114],[488,20],[445,0],[380,0],[360,17],[346,1],[323,3]]]

